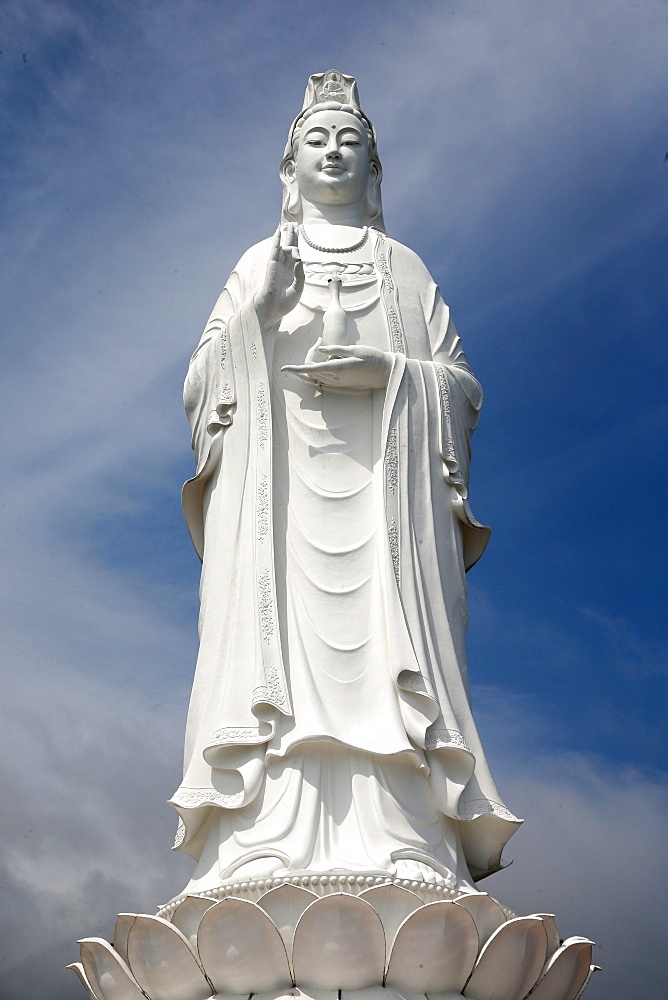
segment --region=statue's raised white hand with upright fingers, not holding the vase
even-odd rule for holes
[[[304,288],[304,265],[297,249],[297,226],[283,223],[274,233],[264,283],[253,296],[260,327],[268,330],[295,308]]]

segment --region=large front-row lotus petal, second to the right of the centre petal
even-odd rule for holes
[[[547,957],[540,917],[515,917],[492,934],[463,990],[472,1000],[524,1000]]]

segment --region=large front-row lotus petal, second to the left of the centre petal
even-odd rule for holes
[[[151,1000],[204,1000],[213,992],[187,939],[162,917],[137,917],[128,961]]]

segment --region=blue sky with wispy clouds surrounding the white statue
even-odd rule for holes
[[[0,995],[82,996],[75,939],[188,877],[181,381],[331,66],[486,392],[470,672],[527,822],[485,887],[660,995],[668,6],[9,0],[0,50]]]

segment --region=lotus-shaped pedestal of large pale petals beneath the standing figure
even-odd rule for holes
[[[576,1000],[592,972],[590,941],[560,943],[549,915],[509,915],[485,893],[284,885],[257,902],[188,897],[167,916],[122,915],[113,947],[81,942],[73,968],[98,1000]]]

